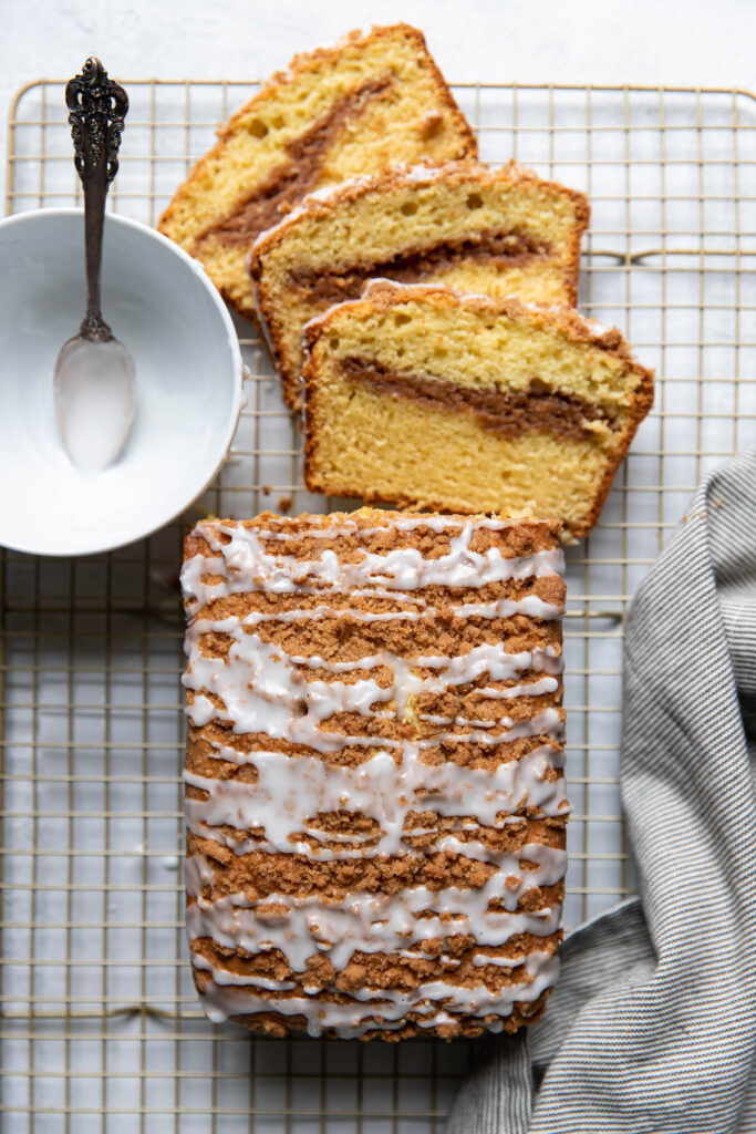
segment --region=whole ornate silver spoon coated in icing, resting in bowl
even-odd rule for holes
[[[84,186],[86,315],[63,344],[53,373],[58,428],[71,463],[101,471],[118,457],[134,421],[134,362],[100,312],[105,197],[118,172],[118,147],[128,111],[126,91],[99,59],[87,59],[66,86],[74,163]]]

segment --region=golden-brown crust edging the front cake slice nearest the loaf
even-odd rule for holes
[[[622,443],[617,447],[617,452],[605,469],[602,483],[600,484],[594,498],[593,507],[586,515],[584,522],[580,525],[572,526],[571,528],[571,535],[575,538],[579,539],[587,535],[597,523],[617,471],[625,459],[627,450],[640,422],[644,420],[653,405],[654,372],[636,361],[629,346],[622,338],[621,332],[615,327],[610,329],[597,328],[595,324],[592,324],[589,320],[584,319],[584,316],[577,311],[567,307],[540,308],[534,304],[528,304],[526,306],[516,298],[495,299],[490,296],[482,295],[459,295],[451,291],[449,288],[433,287],[432,285],[425,285],[422,289],[419,287],[401,287],[388,280],[375,280],[371,282],[365,289],[362,299],[354,301],[349,304],[349,306],[352,311],[355,311],[355,313],[360,310],[364,312],[368,312],[371,310],[388,312],[397,305],[417,299],[421,290],[424,296],[424,302],[440,308],[467,308],[483,313],[491,313],[493,315],[509,315],[515,319],[521,315],[527,315],[536,324],[551,325],[559,329],[572,342],[591,344],[593,347],[597,347],[614,357],[621,358],[626,363],[627,367],[638,376],[638,386],[632,398],[629,420],[623,431]],[[307,354],[303,371],[306,406],[305,483],[313,492],[323,491],[325,485],[318,476],[315,457],[318,443],[318,381],[317,373],[313,364],[312,349],[321,336],[328,336],[330,325],[338,320],[339,312],[342,311],[345,306],[346,305],[342,304],[330,308],[325,312],[325,314],[313,320],[312,323],[305,328],[305,341],[307,346]],[[354,485],[350,485],[347,482],[339,482],[338,477],[330,476],[326,491],[334,496],[349,497],[354,496]],[[384,498],[381,498],[379,493],[373,494],[369,491],[365,491],[362,493],[362,497],[366,503],[381,505],[391,502],[397,505],[399,508],[411,509],[421,507],[427,508],[428,510],[442,511],[447,507],[444,500],[434,499],[432,496],[421,500],[416,497],[413,498],[396,493],[392,496],[390,501],[387,501]]]

